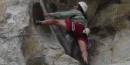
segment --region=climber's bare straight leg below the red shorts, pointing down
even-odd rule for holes
[[[82,58],[85,63],[88,63],[88,51],[87,51],[87,45],[84,40],[78,40],[78,44],[82,53]]]

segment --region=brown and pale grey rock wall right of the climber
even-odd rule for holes
[[[129,4],[111,4],[96,14],[92,34],[97,46],[91,59],[92,65],[129,64]]]

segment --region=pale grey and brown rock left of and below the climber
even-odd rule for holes
[[[48,34],[43,32],[45,37],[42,37],[42,29],[36,27],[38,30],[35,30],[35,26],[30,26],[34,2],[0,1],[0,65],[80,65],[64,53],[51,31]]]

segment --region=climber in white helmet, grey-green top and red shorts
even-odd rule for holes
[[[87,8],[87,4],[83,1],[80,1],[76,6],[74,6],[74,9],[72,10],[64,12],[45,13],[44,16],[49,16],[52,18],[46,20],[44,20],[44,18],[43,20],[36,19],[35,21],[36,24],[61,26],[65,28],[68,33],[72,33],[74,39],[76,39],[79,44],[82,58],[85,64],[88,64],[87,35],[90,32],[89,28],[86,25],[87,16],[85,15],[85,13],[87,11]]]

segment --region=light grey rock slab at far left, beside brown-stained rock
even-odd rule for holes
[[[16,0],[16,2],[19,2]],[[19,2],[17,5],[10,4],[12,1],[0,1],[0,65],[25,65],[21,51],[21,36],[23,28],[28,25],[28,4]],[[10,4],[9,6],[7,4]],[[6,9],[5,9],[6,7]]]

